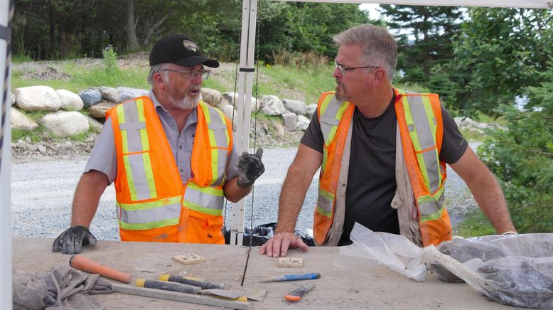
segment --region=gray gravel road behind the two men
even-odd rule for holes
[[[475,149],[476,144],[471,146]],[[265,173],[256,182],[253,195],[246,198],[247,227],[277,222],[279,193],[296,148],[265,149]],[[71,202],[75,186],[87,161],[85,155],[59,158],[27,158],[11,166],[12,235],[16,237],[57,237],[70,225]],[[309,187],[296,228],[305,231],[313,225],[317,196],[317,177]],[[448,167],[446,203],[453,228],[467,210],[476,207],[471,193],[459,176]],[[92,220],[92,233],[100,240],[118,240],[114,187],[109,186],[100,199]],[[252,208],[253,205],[253,208]],[[230,225],[231,205],[227,204],[226,223]],[[252,217],[253,211],[253,217]],[[252,225],[253,223],[253,225]]]

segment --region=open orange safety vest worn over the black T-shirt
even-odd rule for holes
[[[394,88],[394,107],[399,125],[407,173],[417,205],[423,245],[451,240],[451,223],[444,207],[446,166],[439,161],[443,123],[436,94],[413,94]],[[318,244],[328,240],[335,220],[336,190],[342,155],[355,105],[339,102],[334,92],[318,100],[317,114],[323,133],[323,164],[319,177],[313,235]]]

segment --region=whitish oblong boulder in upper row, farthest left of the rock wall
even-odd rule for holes
[[[14,90],[16,107],[25,111],[48,111],[60,109],[61,102],[58,94],[52,87],[29,86]]]

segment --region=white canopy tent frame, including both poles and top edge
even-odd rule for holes
[[[276,0],[286,1],[286,0]],[[11,1],[0,0],[0,26],[8,26],[9,9]],[[237,143],[238,151],[248,149],[249,143],[249,114],[250,101],[252,95],[252,82],[254,73],[254,38],[257,18],[258,0],[243,0],[242,2],[242,39],[240,46],[240,74],[239,74],[239,96],[237,99]],[[306,1],[304,1],[306,2]],[[552,4],[548,0],[402,0],[402,1],[360,1],[360,0],[308,0],[308,2],[328,2],[328,3],[380,3],[380,4],[405,4],[421,6],[495,6],[495,7],[525,7],[530,9],[550,9]],[[12,2],[13,4],[13,2]],[[6,53],[6,40],[0,40],[0,68],[9,68],[10,59]],[[7,74],[6,74],[7,73]],[[2,71],[0,80],[3,85],[9,85],[9,70]],[[7,87],[9,89],[9,86]],[[245,96],[247,95],[247,96]],[[0,119],[0,130],[4,130],[3,145],[0,145],[0,249],[2,256],[0,260],[0,309],[11,308],[11,211],[10,211],[10,141],[11,132],[9,129],[9,99],[4,98],[1,102],[0,112],[4,112],[5,119]],[[0,113],[1,115],[2,113]],[[240,154],[240,153],[239,153]],[[244,200],[232,205],[231,243],[242,244],[242,233],[244,225]],[[237,238],[238,236],[238,238]]]

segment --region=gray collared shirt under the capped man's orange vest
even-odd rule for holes
[[[178,132],[175,119],[173,119],[171,114],[163,108],[161,103],[159,103],[154,92],[150,90],[148,96],[154,102],[154,107],[161,120],[163,131],[169,141],[169,145],[171,145],[171,151],[173,151],[173,157],[175,158],[178,172],[181,174],[181,180],[183,184],[186,184],[188,179],[193,177],[192,169],[190,169],[190,158],[192,157],[192,146],[194,143],[196,125],[198,124],[197,108],[195,108],[186,119],[183,131]],[[238,170],[236,168],[237,162],[238,155],[236,149],[233,147],[230,155],[227,157],[227,180],[238,176]],[[92,149],[84,172],[91,170],[97,170],[107,175],[110,184],[115,180],[117,174],[117,151],[115,149],[111,118],[106,119],[102,133],[100,133],[100,137],[98,137]]]

